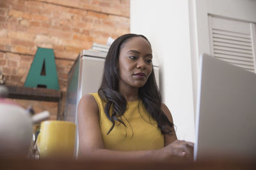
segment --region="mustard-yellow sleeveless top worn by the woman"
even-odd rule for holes
[[[98,93],[92,95],[98,104],[100,129],[106,149],[132,151],[155,150],[164,147],[164,136],[157,127],[156,120],[148,114],[142,101],[128,102],[127,109],[121,117],[126,127],[120,122],[115,122],[113,130],[107,134],[112,123],[104,112],[106,103],[100,99]]]

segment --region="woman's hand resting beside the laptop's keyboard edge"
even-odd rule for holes
[[[193,161],[193,149],[194,143],[176,140],[155,153],[160,160]]]

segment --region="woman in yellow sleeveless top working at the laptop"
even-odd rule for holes
[[[157,89],[145,36],[125,34],[109,48],[100,89],[78,106],[79,157],[192,158],[193,143],[178,141],[172,115]]]

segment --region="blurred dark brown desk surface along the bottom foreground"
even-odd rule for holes
[[[0,169],[256,169],[254,160],[205,160],[202,162],[152,162],[114,160],[22,160],[0,159]]]

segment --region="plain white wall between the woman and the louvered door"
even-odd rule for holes
[[[195,141],[187,0],[131,0],[131,33],[145,35],[161,69],[161,93],[178,139]],[[154,60],[153,60],[154,62]]]

